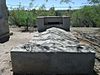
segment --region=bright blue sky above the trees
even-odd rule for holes
[[[6,4],[9,9],[18,7],[19,3],[28,9],[30,0],[6,0]],[[87,0],[72,0],[72,2],[68,4],[60,3],[60,0],[48,0],[48,2],[45,2],[45,0],[35,0],[33,2],[33,8],[38,9],[38,7],[42,6],[43,4],[45,4],[46,9],[55,7],[56,10],[63,10],[68,9],[69,6],[71,6],[72,9],[77,9],[81,6],[87,5],[88,3]]]

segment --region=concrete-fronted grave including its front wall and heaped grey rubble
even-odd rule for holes
[[[50,28],[11,50],[12,67],[15,73],[21,74],[92,73],[93,50],[90,46],[80,46],[71,32]]]

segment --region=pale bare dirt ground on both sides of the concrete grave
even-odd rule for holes
[[[82,31],[85,33],[98,33],[99,28],[71,28],[71,31]],[[13,75],[10,59],[10,50],[19,44],[27,43],[32,39],[30,32],[21,32],[19,28],[10,28],[13,35],[10,40],[4,44],[0,44],[0,75]],[[97,47],[96,55],[100,59],[100,48]],[[94,70],[100,75],[100,60],[95,59]]]

